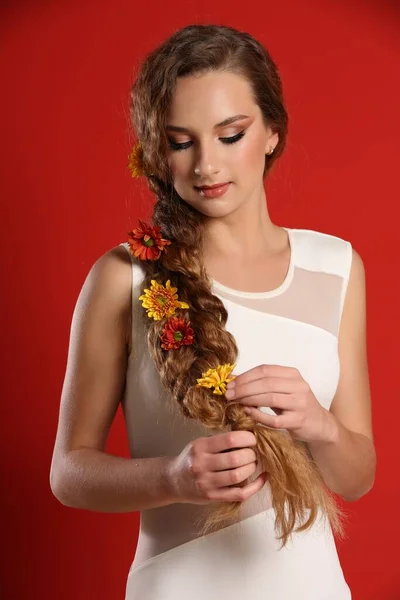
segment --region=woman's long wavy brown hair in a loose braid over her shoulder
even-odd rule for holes
[[[228,403],[196,385],[196,379],[207,369],[227,362],[234,364],[238,348],[225,328],[228,312],[212,293],[212,280],[203,265],[203,231],[208,217],[184,202],[174,189],[166,159],[169,142],[165,125],[178,78],[223,71],[247,80],[265,125],[279,134],[274,153],[265,156],[264,178],[284,150],[288,116],[277,67],[249,33],[224,25],[179,29],[145,57],[132,86],[132,124],[142,146],[148,185],[156,197],[152,222],[161,228],[162,237],[172,242],[158,260],[141,261],[145,269],[143,285],[149,288],[152,279],[171,280],[179,290],[179,299],[190,306],[190,324],[195,331],[192,345],[165,351],[160,346],[165,319],[153,321],[143,311],[149,351],[162,385],[185,417],[221,432],[254,433],[262,470],[269,474],[275,525],[283,546],[296,525],[295,531],[304,531],[314,523],[319,509],[335,534],[342,537],[344,513],[325,485],[307,445],[283,431],[262,426],[247,416],[240,404]],[[240,506],[240,501],[210,504],[203,533],[239,520]],[[298,524],[298,520],[303,522]]]

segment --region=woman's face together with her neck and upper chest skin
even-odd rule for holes
[[[214,129],[237,114],[248,118]],[[178,133],[169,126],[189,132]],[[223,143],[222,138],[242,131],[245,135],[238,142]],[[269,217],[263,169],[265,154],[277,145],[278,134],[265,125],[247,81],[233,73],[179,79],[167,114],[167,132],[172,143],[189,143],[183,150],[171,148],[168,163],[180,197],[210,217],[203,249],[208,272],[236,289],[276,287],[287,270],[289,244],[286,232]],[[203,198],[194,189],[227,181],[232,182],[230,189],[220,198]],[[254,289],[255,282],[259,290]]]

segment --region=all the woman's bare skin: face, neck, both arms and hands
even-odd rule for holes
[[[213,129],[238,113],[249,118]],[[290,247],[286,231],[269,218],[262,172],[265,154],[278,140],[263,123],[248,84],[229,73],[179,80],[168,124],[189,129],[171,133],[177,143],[192,143],[181,152],[171,149],[168,160],[179,195],[210,217],[204,251],[209,273],[245,291],[277,287],[287,272]],[[243,129],[245,136],[237,144],[220,141]],[[202,198],[193,188],[221,181],[232,185],[219,199]],[[106,452],[132,347],[131,292],[131,262],[121,247],[101,256],[82,286],[71,323],[50,470],[54,495],[67,506],[102,512],[246,500],[265,483],[262,474],[251,484],[239,485],[256,469],[251,432],[195,439],[177,457],[124,458]],[[318,405],[292,370],[259,365],[235,380],[237,401],[250,407],[259,406],[261,397],[264,406],[279,403],[282,414],[268,426],[287,426],[307,438],[328,486],[348,500],[366,493],[375,473],[365,319],[364,267],[353,251],[339,335],[340,382],[330,411]],[[253,410],[253,418],[265,419]],[[321,437],[322,422],[326,435]]]

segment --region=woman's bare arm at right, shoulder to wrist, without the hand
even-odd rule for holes
[[[327,440],[309,442],[327,486],[349,502],[373,486],[376,454],[366,347],[365,270],[353,250],[339,332],[340,379],[327,411]]]

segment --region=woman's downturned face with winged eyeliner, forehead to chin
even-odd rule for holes
[[[265,126],[243,77],[222,72],[179,78],[167,135],[175,190],[203,214],[224,216],[264,198],[265,154],[275,148],[278,134]],[[226,182],[220,197],[207,198],[196,189]]]

